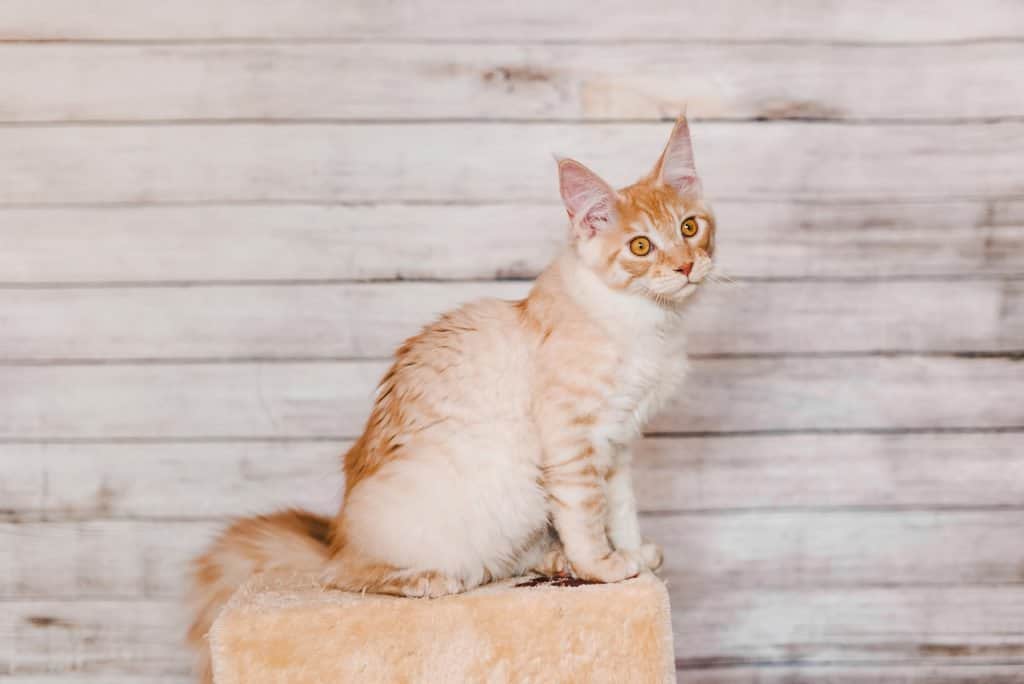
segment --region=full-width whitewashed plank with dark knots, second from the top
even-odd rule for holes
[[[987,42],[0,45],[0,121],[992,119],[1024,112],[1022,59]]]

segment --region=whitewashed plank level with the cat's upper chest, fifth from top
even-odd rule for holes
[[[0,356],[386,358],[440,313],[529,283],[0,289]],[[1019,351],[1024,281],[706,286],[693,354]],[[808,335],[808,331],[816,331]]]

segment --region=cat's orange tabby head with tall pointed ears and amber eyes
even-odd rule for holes
[[[608,287],[671,304],[711,273],[715,217],[703,201],[686,117],[654,169],[629,187],[615,190],[570,159],[558,162],[558,178],[572,249]]]

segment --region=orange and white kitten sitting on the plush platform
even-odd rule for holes
[[[467,304],[399,347],[345,455],[338,515],[243,519],[196,559],[198,648],[260,570],[437,597],[530,570],[618,582],[662,564],[640,536],[630,444],[683,379],[682,312],[713,267],[686,118],[628,187],[568,159],[558,178],[567,248],[525,299]]]

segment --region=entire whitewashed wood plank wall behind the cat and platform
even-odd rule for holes
[[[0,679],[188,681],[183,563],[329,509],[385,358],[516,296],[551,154],[688,102],[740,287],[640,456],[680,680],[1024,681],[1014,0],[0,2]]]

